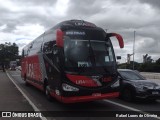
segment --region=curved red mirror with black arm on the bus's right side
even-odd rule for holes
[[[122,36],[120,34],[107,33],[107,37],[114,37],[114,36],[117,38],[120,48],[123,48],[124,47],[124,42],[123,42],[123,38],[122,38]]]

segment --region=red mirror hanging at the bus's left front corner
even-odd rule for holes
[[[56,45],[58,47],[63,47],[63,32],[60,29],[58,29],[56,33]]]

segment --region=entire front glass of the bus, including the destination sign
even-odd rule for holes
[[[64,67],[73,72],[112,73],[116,65],[112,44],[109,39],[105,40],[102,31],[67,31],[64,37],[64,57]]]

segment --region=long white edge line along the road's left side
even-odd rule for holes
[[[7,76],[9,79],[13,82],[13,84],[17,87],[17,89],[21,92],[21,94],[26,98],[26,100],[29,102],[29,104],[32,106],[35,112],[40,112],[40,110],[34,105],[34,103],[27,97],[27,95],[23,92],[23,90],[14,82],[14,80],[10,77],[10,75],[7,73]],[[40,117],[41,120],[47,120],[46,117]]]

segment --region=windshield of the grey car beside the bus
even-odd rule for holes
[[[134,71],[119,71],[120,75],[127,80],[145,80],[138,72]]]

